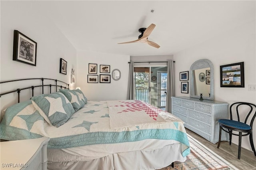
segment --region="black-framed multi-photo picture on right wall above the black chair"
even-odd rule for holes
[[[244,87],[244,62],[220,66],[220,87]]]

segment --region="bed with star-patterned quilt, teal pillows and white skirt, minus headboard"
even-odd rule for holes
[[[57,86],[56,86],[57,87]],[[190,153],[183,122],[136,100],[88,101],[79,89],[4,110],[0,138],[50,137],[48,169],[160,169]]]

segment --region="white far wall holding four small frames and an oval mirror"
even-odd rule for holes
[[[125,100],[128,91],[129,55],[98,53],[94,51],[77,52],[77,87],[91,101]],[[121,78],[115,81],[111,77],[110,83],[87,83],[88,64],[98,65],[97,74],[111,75],[113,69],[121,71]],[[100,65],[110,65],[110,73],[100,73]],[[91,74],[92,75],[92,74]]]

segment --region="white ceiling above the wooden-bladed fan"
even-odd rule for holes
[[[170,55],[255,20],[255,1],[42,1],[41,12],[77,50],[122,55]],[[152,13],[151,10],[154,10]],[[139,28],[156,24],[148,40]],[[235,36],[235,35],[234,35]]]

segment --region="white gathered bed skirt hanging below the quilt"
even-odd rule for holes
[[[60,156],[56,152],[56,156]],[[170,144],[155,150],[120,152],[88,161],[48,162],[48,170],[154,170],[174,161],[184,162],[181,144]],[[57,155],[58,154],[58,155]],[[48,155],[49,156],[49,155]],[[51,153],[51,156],[54,154]]]

